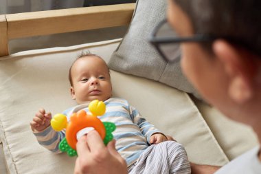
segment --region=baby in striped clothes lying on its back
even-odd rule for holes
[[[100,116],[103,122],[114,122],[113,136],[116,149],[126,160],[129,173],[190,173],[190,163],[183,146],[164,135],[154,125],[141,117],[128,101],[112,98],[109,67],[94,54],[85,54],[73,62],[69,69],[71,97],[78,105],[64,111],[69,121],[72,113],[88,110],[89,102],[104,101],[106,113]],[[54,153],[60,153],[58,144],[65,132],[56,132],[50,127],[51,113],[40,109],[31,122],[31,128],[42,146]]]

